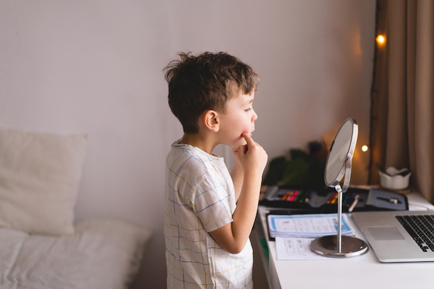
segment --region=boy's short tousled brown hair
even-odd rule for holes
[[[252,68],[225,52],[178,53],[164,68],[168,105],[185,133],[199,131],[198,118],[207,110],[225,113],[225,105],[240,91],[251,94],[259,84]]]

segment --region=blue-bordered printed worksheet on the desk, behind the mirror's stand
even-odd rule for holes
[[[268,215],[270,237],[276,238],[318,238],[338,233],[338,215],[336,213],[306,215]],[[342,214],[342,236],[354,236],[349,227],[347,214]]]

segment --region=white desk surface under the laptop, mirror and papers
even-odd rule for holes
[[[418,193],[408,195],[410,210],[434,209]],[[259,220],[255,230],[266,238],[270,256],[263,258],[268,265],[268,282],[271,289],[433,289],[434,262],[379,263],[369,250],[363,256],[348,259],[327,258],[321,261],[278,261],[276,245],[268,240],[266,213],[268,208],[259,207]],[[356,237],[363,239],[351,218],[349,222]]]

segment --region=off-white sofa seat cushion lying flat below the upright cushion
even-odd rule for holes
[[[76,222],[62,236],[0,228],[0,288],[131,288],[151,234],[110,219]]]

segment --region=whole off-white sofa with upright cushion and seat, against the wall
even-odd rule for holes
[[[0,128],[0,288],[123,289],[151,236],[121,220],[74,223],[87,136]]]

